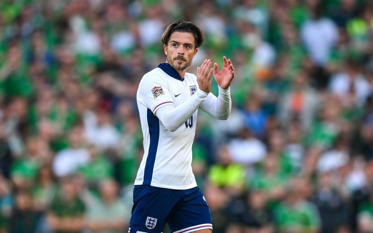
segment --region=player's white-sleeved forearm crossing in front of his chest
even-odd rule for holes
[[[167,128],[173,132],[176,131],[182,124],[188,120],[198,107],[207,98],[208,93],[203,90],[197,90],[191,98],[177,107],[172,105],[164,105],[156,111],[156,116]]]

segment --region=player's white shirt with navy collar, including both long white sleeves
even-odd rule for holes
[[[231,112],[229,88],[219,87],[216,97],[199,90],[194,74],[186,73],[181,79],[172,66],[162,63],[142,77],[137,105],[144,156],[135,185],[170,189],[197,186],[191,166],[197,109],[200,107],[217,119],[227,119]]]

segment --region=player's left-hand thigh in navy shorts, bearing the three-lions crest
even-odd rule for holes
[[[134,205],[130,220],[130,233],[160,233],[167,216],[184,195],[183,190],[135,185]]]

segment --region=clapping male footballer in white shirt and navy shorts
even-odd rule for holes
[[[192,173],[192,144],[198,108],[217,119],[228,118],[234,68],[223,57],[220,71],[208,59],[197,67],[197,76],[185,72],[204,41],[191,22],[172,23],[161,40],[166,63],[145,74],[137,90],[144,157],[129,232],[161,233],[167,223],[171,233],[211,233],[209,206]],[[219,85],[217,97],[210,93],[212,74]]]

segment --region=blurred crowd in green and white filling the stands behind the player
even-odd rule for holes
[[[371,0],[1,0],[0,233],[128,230],[137,86],[178,19],[188,72],[236,70],[193,145],[214,233],[372,233]]]

